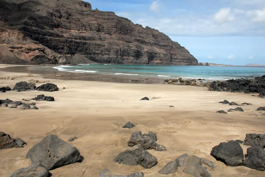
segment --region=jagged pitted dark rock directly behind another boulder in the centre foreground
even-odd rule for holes
[[[154,149],[156,151],[166,151],[165,146],[156,143],[156,133],[149,131],[148,134],[142,134],[141,131],[135,131],[131,134],[128,146],[133,147],[136,144],[142,145],[144,149]]]

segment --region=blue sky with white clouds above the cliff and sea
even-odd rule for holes
[[[265,65],[265,0],[87,0],[149,26],[199,62]]]

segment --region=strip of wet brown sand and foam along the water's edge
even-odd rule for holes
[[[89,64],[90,65],[90,64]],[[92,73],[92,72],[71,72],[71,71],[60,71],[58,69],[54,69],[54,66],[57,67],[58,65],[0,65],[1,71],[5,72],[25,72],[27,71],[28,74],[38,74],[42,75],[46,79],[52,79],[55,75],[63,75],[65,77],[58,77],[57,79],[62,80],[86,80],[86,81],[103,81],[103,82],[116,82],[116,83],[142,83],[142,84],[163,84],[165,83],[164,80],[166,79],[179,79],[179,77],[147,77],[147,76],[136,76],[132,75],[112,75],[112,74],[102,74],[102,73]],[[59,65],[59,66],[68,66],[68,65]],[[70,65],[72,66],[72,65]],[[78,65],[75,65],[78,66]],[[30,68],[34,67],[34,68]],[[42,67],[42,68],[40,68]],[[45,69],[44,67],[48,67]],[[216,78],[197,78],[197,77],[184,77],[180,76],[183,79],[196,79],[198,82],[213,82],[213,81],[226,81],[229,79],[216,79]],[[253,79],[247,77],[248,79]],[[205,80],[198,80],[198,79],[205,79]],[[232,79],[232,78],[231,78]],[[239,78],[233,78],[239,79]],[[131,80],[140,80],[140,81],[131,81]]]

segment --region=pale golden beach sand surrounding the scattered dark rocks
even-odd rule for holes
[[[47,80],[37,75],[25,77],[26,74],[1,71],[0,78],[13,76],[16,80],[0,79],[0,87],[12,88],[15,83],[29,79]],[[0,176],[9,176],[13,171],[30,165],[30,160],[25,158],[28,150],[48,134],[58,135],[66,142],[69,138],[78,137],[68,143],[84,157],[81,163],[51,170],[53,177],[96,177],[103,169],[110,169],[112,174],[118,175],[143,172],[146,177],[192,176],[182,173],[182,168],[171,175],[158,173],[164,165],[183,153],[213,161],[215,171],[207,167],[212,176],[265,176],[262,171],[244,166],[226,166],[210,156],[211,149],[220,142],[244,140],[246,133],[265,134],[265,116],[255,111],[265,106],[265,99],[253,97],[252,94],[211,92],[207,88],[193,86],[49,80],[57,84],[58,92],[0,93],[0,99],[13,101],[34,98],[38,94],[53,96],[56,100],[36,102],[39,110],[0,107],[0,131],[28,143],[24,148],[0,150]],[[150,100],[140,101],[145,96]],[[224,99],[253,105],[242,106],[244,112],[229,112],[228,115],[215,113],[237,107],[218,103]],[[170,108],[171,105],[175,107]],[[128,121],[136,127],[122,128]],[[114,156],[130,148],[127,141],[131,133],[139,130],[142,133],[157,133],[158,144],[167,148],[165,152],[148,150],[157,158],[158,164],[151,169],[143,169],[141,166],[114,163]],[[248,146],[241,147],[246,154]]]

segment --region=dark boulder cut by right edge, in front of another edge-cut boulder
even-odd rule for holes
[[[247,149],[247,157],[243,165],[255,170],[265,170],[265,150],[262,147],[249,147]]]

